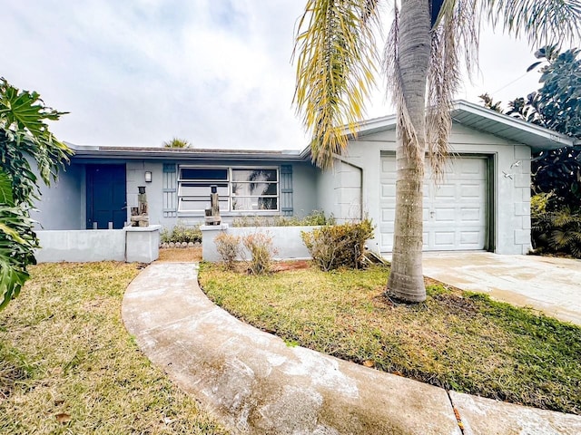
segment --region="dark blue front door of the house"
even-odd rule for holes
[[[87,165],[87,228],[123,228],[127,220],[125,165]]]

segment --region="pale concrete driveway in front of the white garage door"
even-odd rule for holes
[[[424,275],[581,325],[581,260],[489,252],[425,253]]]

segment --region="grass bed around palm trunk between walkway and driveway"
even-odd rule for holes
[[[581,328],[487,295],[428,285],[423,304],[382,293],[389,268],[253,276],[202,264],[206,294],[308,347],[454,391],[581,414]]]

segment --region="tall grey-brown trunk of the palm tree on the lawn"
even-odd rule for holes
[[[398,65],[401,92],[415,134],[405,128],[399,128],[398,132],[396,214],[387,293],[405,302],[426,299],[421,252],[429,30],[429,1],[403,0],[399,15]],[[403,108],[398,108],[399,117],[402,113]]]

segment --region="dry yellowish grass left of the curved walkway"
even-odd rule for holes
[[[225,433],[141,353],[122,263],[31,267],[0,312],[0,433]]]

